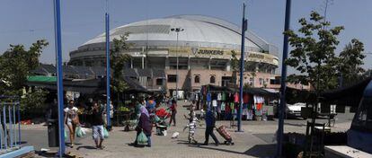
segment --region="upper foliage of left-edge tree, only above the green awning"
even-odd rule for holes
[[[10,45],[0,56],[0,93],[21,95],[30,71],[39,66],[39,57],[43,48],[48,46],[46,40],[38,40],[29,50],[23,45]]]

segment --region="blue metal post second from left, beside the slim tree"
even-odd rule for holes
[[[107,126],[111,127],[110,120],[110,15],[106,13],[106,116],[107,116]]]

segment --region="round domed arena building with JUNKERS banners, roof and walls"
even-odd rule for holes
[[[176,32],[176,28],[181,30]],[[231,83],[232,50],[240,58],[239,26],[213,17],[176,15],[133,22],[112,29],[111,41],[125,33],[128,33],[128,43],[132,44],[122,52],[132,57],[127,68],[164,70],[168,92],[176,89],[177,57],[178,87],[186,92],[198,91],[204,84]],[[279,85],[274,80],[279,64],[278,48],[252,31],[247,31],[245,38],[244,83],[277,88]],[[105,34],[70,52],[69,64],[105,66]]]

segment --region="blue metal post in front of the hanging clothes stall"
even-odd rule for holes
[[[242,22],[242,48],[240,57],[240,105],[238,110],[238,129],[237,132],[242,132],[242,111],[243,111],[243,86],[244,86],[244,43],[245,43],[245,31],[247,30],[247,20],[245,19],[245,3],[243,4],[243,22]]]

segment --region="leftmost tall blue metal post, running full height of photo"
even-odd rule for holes
[[[62,70],[62,41],[60,0],[54,0],[54,30],[57,65],[57,92],[58,92],[58,131],[59,131],[59,157],[65,154],[65,124],[64,124],[64,97],[63,97],[63,70]]]

